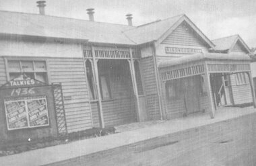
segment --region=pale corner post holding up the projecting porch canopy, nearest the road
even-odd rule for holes
[[[210,73],[208,73],[207,63],[205,63],[204,80],[205,80],[205,85],[206,85],[207,93],[208,93],[208,97],[209,97],[210,117],[214,118],[215,117],[215,107],[214,107],[215,104],[214,104],[214,98],[212,96],[212,87],[211,87],[211,82],[210,82]]]

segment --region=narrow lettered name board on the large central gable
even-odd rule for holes
[[[168,54],[195,54],[201,53],[199,48],[178,48],[178,47],[165,47],[165,52]]]

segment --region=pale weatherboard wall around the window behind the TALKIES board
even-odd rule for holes
[[[0,84],[7,81],[3,57],[45,60],[49,83],[61,83],[68,132],[92,128],[81,44],[23,39],[0,40]]]

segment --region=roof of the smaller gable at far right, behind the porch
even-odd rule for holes
[[[214,50],[220,50],[220,51],[231,50],[234,47],[234,45],[236,44],[236,42],[238,42],[238,41],[241,42],[241,44],[243,45],[245,50],[250,52],[249,47],[247,46],[247,44],[245,44],[243,39],[238,34],[212,40],[212,42],[214,42],[214,44],[216,45]]]

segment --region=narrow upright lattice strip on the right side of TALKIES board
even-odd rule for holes
[[[60,84],[52,84],[53,86],[53,97],[55,103],[55,114],[57,120],[57,129],[59,136],[65,136],[67,134],[67,124],[65,118],[65,108],[63,102],[62,87]]]

